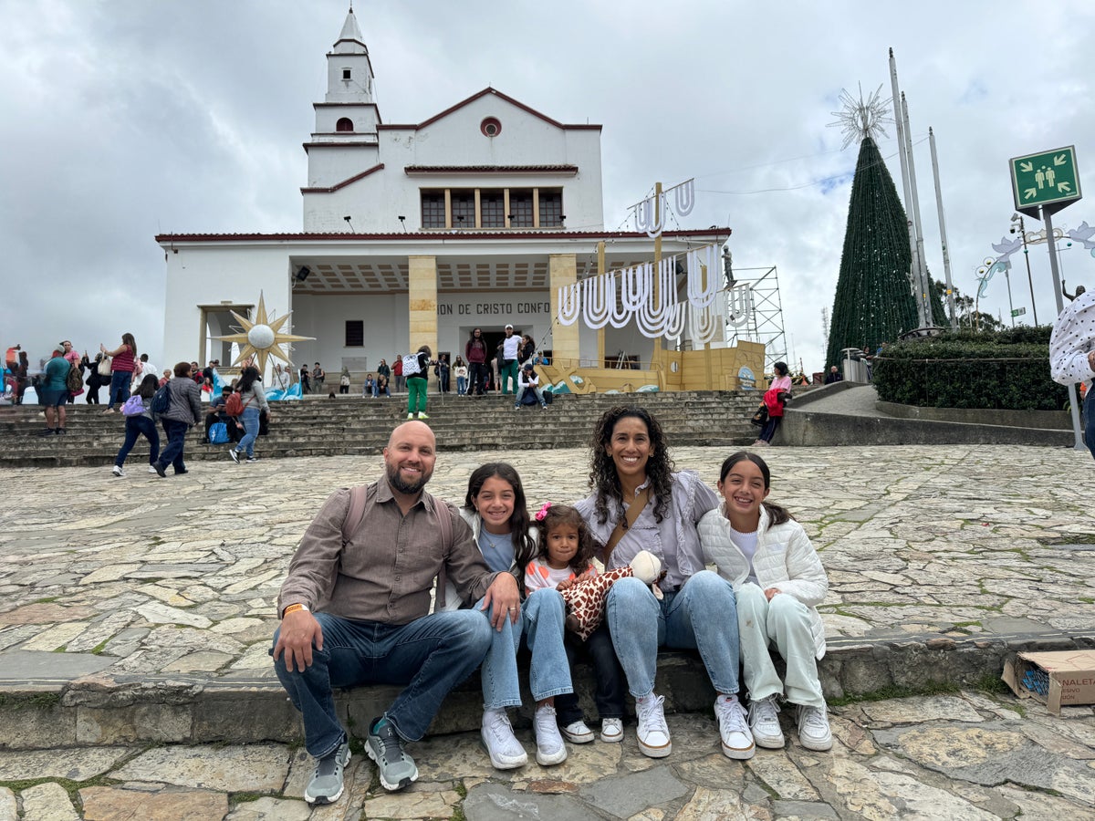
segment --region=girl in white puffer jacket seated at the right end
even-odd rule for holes
[[[765,501],[771,472],[756,453],[739,451],[723,462],[723,502],[698,525],[704,560],[734,585],[749,725],[758,747],[783,747],[776,697],[798,709],[798,738],[808,750],[832,748],[817,660],[825,656],[825,626],[817,605],[829,581],[803,527]],[[774,641],[787,662],[786,681],[769,655]]]

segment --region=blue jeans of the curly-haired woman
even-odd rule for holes
[[[609,589],[604,613],[636,698],[654,691],[662,645],[699,650],[715,691],[738,692],[737,604],[730,582],[718,574],[701,570],[660,602],[638,579],[620,579]]]

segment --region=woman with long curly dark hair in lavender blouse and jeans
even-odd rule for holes
[[[638,749],[653,759],[672,750],[664,698],[654,692],[658,647],[696,649],[718,693],[715,716],[725,755],[750,759],[754,748],[738,702],[738,621],[734,588],[704,569],[696,524],[718,497],[695,471],[673,472],[657,419],[641,407],[613,407],[590,442],[589,486],[575,507],[604,544],[604,567],[625,567],[639,551],[666,573],[657,599],[635,578],[609,590],[604,618],[635,697]]]

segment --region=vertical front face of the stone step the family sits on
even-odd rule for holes
[[[884,689],[923,691],[976,687],[1000,677],[1014,652],[1071,650],[1079,646],[1060,634],[978,637],[954,640],[910,636],[900,640],[837,639],[818,663],[827,698]],[[526,679],[522,675],[522,680]],[[589,716],[593,674],[575,669],[575,692]],[[658,655],[655,689],[666,713],[711,713],[715,692],[699,656],[687,651]],[[531,724],[533,699],[522,683],[523,706],[515,725]],[[336,692],[344,726],[366,727],[392,703],[400,687],[365,686]],[[629,699],[629,710],[633,708]],[[430,733],[475,731],[483,713],[477,675],[449,694]],[[104,678],[74,681],[35,678],[0,687],[0,749],[36,750],[142,743],[293,743],[302,738],[300,716],[266,670],[241,670],[231,678]]]

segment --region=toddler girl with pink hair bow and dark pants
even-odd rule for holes
[[[591,562],[598,545],[577,510],[568,505],[544,505],[535,516],[535,527],[539,554],[525,570],[525,588],[529,595],[541,588],[565,590],[579,577],[597,574]],[[597,678],[593,699],[601,717],[601,741],[623,741],[624,677],[608,623],[602,623],[585,641],[567,631],[565,648],[572,680],[579,652],[585,652],[592,661]],[[593,731],[586,726],[576,693],[555,696],[555,710],[563,738],[574,744],[593,740]]]

